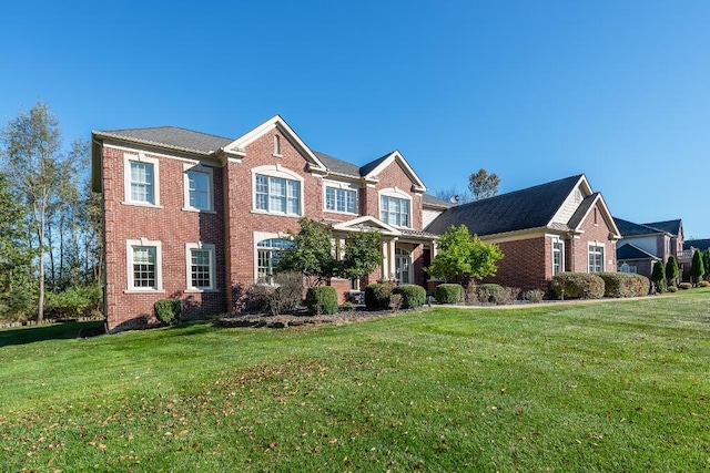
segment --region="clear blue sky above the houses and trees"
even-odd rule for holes
[[[9,2],[0,125],[47,102],[67,144],[275,114],[313,150],[399,150],[432,192],[584,173],[615,216],[710,238],[710,2]]]

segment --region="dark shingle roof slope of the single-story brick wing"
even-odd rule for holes
[[[443,234],[464,224],[478,236],[547,226],[582,175],[450,207],[425,229]]]

